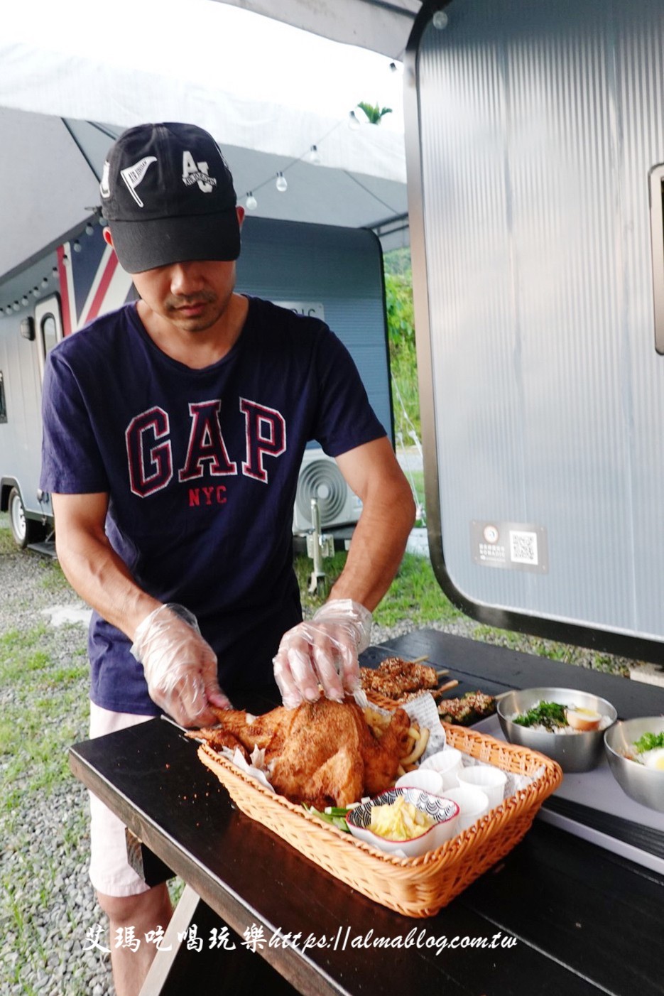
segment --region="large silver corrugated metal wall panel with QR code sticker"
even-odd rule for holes
[[[480,605],[659,638],[664,5],[446,12],[417,79],[447,572]],[[478,564],[474,520],[542,527],[548,570]]]

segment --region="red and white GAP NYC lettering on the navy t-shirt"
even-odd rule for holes
[[[241,453],[229,453],[219,420],[221,401],[213,398],[190,402],[189,441],[184,464],[177,469],[173,466],[168,412],[154,405],[135,415],[124,433],[132,493],[147,498],[167,487],[175,474],[180,483],[204,476],[234,476],[238,474],[238,463],[246,477],[267,484],[265,458],[286,452],[286,420],[275,408],[246,397],[240,398],[239,408],[244,415],[245,445]],[[206,504],[211,504],[213,498],[219,504],[226,500],[222,485],[201,490]],[[190,500],[190,504],[199,504],[199,500]]]

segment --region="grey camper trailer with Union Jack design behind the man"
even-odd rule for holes
[[[382,252],[366,229],[248,217],[238,290],[324,319],[349,350],[393,441]],[[53,510],[39,490],[44,361],[65,336],[134,296],[96,217],[0,280],[0,510],[20,547],[49,542]],[[361,506],[335,462],[311,444],[294,533],[352,527]],[[52,548],[52,544],[51,544]]]

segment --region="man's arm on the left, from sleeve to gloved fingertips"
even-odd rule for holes
[[[217,721],[209,705],[230,703],[217,681],[217,657],[182,607],[164,606],[136,585],[111,547],[105,493],[54,494],[58,559],[72,588],[132,641],[150,698],[183,726]]]

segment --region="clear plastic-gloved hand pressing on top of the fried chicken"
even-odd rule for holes
[[[350,599],[332,599],[311,621],[282,636],[273,663],[284,705],[314,702],[321,692],[337,702],[359,687],[357,654],[369,645],[371,613]]]

